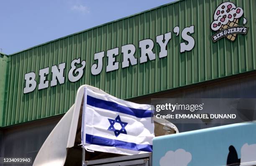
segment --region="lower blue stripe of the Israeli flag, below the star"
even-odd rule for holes
[[[152,152],[153,146],[148,144],[129,143],[121,140],[113,140],[109,138],[99,137],[95,135],[86,134],[86,143],[100,146],[112,146],[117,148],[130,149],[133,151]]]

